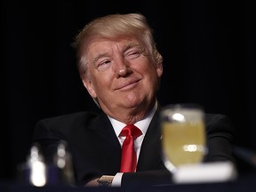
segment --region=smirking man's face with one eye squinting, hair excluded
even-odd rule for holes
[[[96,39],[87,50],[89,75],[83,82],[105,113],[115,117],[155,102],[162,63],[152,63],[137,39]]]

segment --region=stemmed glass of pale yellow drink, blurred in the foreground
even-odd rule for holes
[[[175,172],[185,164],[200,164],[206,153],[204,109],[197,104],[170,104],[160,112],[163,158]]]

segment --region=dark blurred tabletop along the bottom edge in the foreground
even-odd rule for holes
[[[0,181],[1,192],[255,192],[256,191],[256,172],[239,176],[234,181],[228,182],[212,182],[212,183],[196,183],[196,184],[168,184],[159,186],[131,186],[126,188],[112,187],[72,187],[65,185],[49,185],[44,187],[34,187],[29,185],[21,185],[12,181]]]

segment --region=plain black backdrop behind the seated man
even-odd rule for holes
[[[202,104],[256,151],[255,6],[251,1],[1,1],[0,179],[16,177],[36,122],[95,110],[71,48],[79,29],[108,13],[141,12],[164,56],[159,100]]]

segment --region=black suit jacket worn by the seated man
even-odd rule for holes
[[[157,185],[171,181],[172,175],[162,162],[158,114],[156,112],[153,117],[143,140],[137,172],[124,173],[122,186]],[[205,123],[209,152],[204,161],[233,161],[233,129],[227,116],[207,114]],[[119,172],[121,147],[104,113],[78,112],[43,119],[36,124],[33,141],[40,144],[48,163],[51,163],[60,140],[68,142],[77,184],[84,185],[103,174]]]

